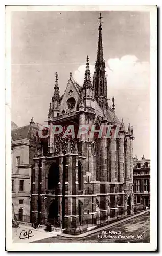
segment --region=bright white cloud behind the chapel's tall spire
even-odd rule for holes
[[[94,65],[90,65],[91,78]],[[74,79],[80,85],[84,81],[85,65],[74,72]],[[121,59],[109,59],[106,63],[109,89],[144,89],[149,86],[150,66],[148,62],[140,62],[134,55],[125,55]]]

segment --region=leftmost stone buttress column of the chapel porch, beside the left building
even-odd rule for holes
[[[39,181],[39,157],[33,158],[34,168],[33,168],[33,183],[32,183],[32,195],[31,195],[31,222],[37,222],[38,218],[38,181]]]

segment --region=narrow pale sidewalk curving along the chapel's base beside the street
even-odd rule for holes
[[[113,223],[111,223],[111,224],[109,224],[109,225],[106,225],[106,226],[104,226],[104,227],[100,227],[100,228],[97,228],[97,229],[94,229],[94,230],[90,230],[90,231],[88,231],[88,232],[86,232],[86,233],[83,233],[83,234],[77,234],[77,235],[75,235],[75,234],[64,234],[64,233],[60,233],[59,236],[61,236],[61,237],[66,237],[66,238],[82,238],[82,237],[86,237],[86,236],[89,236],[89,234],[93,234],[93,233],[99,232],[99,231],[101,231],[101,230],[105,230],[105,229],[107,229],[107,228],[109,228],[109,227],[118,225],[118,224],[120,224],[120,223],[122,223],[122,222],[128,221],[128,220],[133,219],[133,218],[135,218],[135,217],[137,217],[137,216],[146,214],[146,212],[149,212],[149,211],[150,211],[150,209],[149,209],[149,210],[142,211],[142,212],[139,212],[139,213],[136,214],[136,215],[129,216],[129,217],[125,218],[125,219],[122,219],[122,220],[113,222]]]

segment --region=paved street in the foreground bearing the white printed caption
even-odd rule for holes
[[[116,232],[115,232],[116,231]],[[110,237],[111,236],[111,237]],[[33,243],[149,243],[150,212],[135,217],[116,226],[90,234],[82,238],[61,236],[44,238]]]

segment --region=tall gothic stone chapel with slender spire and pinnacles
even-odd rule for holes
[[[56,73],[54,95],[49,107],[48,125],[62,125],[60,134],[48,135],[41,153],[33,159],[31,221],[51,223],[67,232],[80,226],[98,225],[133,211],[133,128],[125,130],[115,115],[114,97],[108,105],[107,75],[102,46],[101,14],[95,72],[91,81],[86,59],[82,86],[72,73],[63,96]],[[62,137],[69,125],[77,134],[79,125],[119,126],[116,137],[89,139]]]

